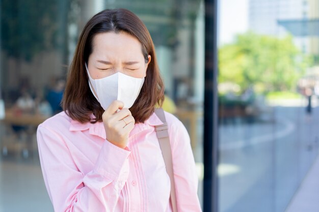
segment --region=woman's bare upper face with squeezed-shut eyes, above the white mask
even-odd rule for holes
[[[94,36],[87,65],[93,79],[108,77],[117,72],[143,78],[150,60],[151,56],[148,55],[148,63],[145,63],[138,39],[125,32],[108,32]]]

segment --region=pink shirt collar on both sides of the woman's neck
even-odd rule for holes
[[[92,118],[95,116],[92,115]],[[153,113],[144,123],[136,124],[135,128],[130,132],[129,136],[133,136],[143,130],[154,128],[154,126],[163,125],[161,119]],[[89,130],[91,135],[99,136],[103,139],[106,139],[105,130],[102,122],[97,122],[92,124],[90,122],[80,123],[77,120],[71,120],[69,131],[86,131]]]

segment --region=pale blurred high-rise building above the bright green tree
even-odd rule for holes
[[[250,0],[249,29],[257,34],[283,37],[294,34],[281,20],[308,20],[319,17],[318,0]],[[303,24],[294,42],[305,53],[319,53],[318,38],[303,34]]]

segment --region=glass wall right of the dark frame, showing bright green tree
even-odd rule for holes
[[[283,212],[318,155],[317,0],[219,1],[219,211]]]

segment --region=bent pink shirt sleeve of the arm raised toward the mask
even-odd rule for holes
[[[44,183],[56,212],[114,211],[128,178],[129,149],[105,141],[93,170],[78,170],[61,135],[38,127],[37,140]]]

